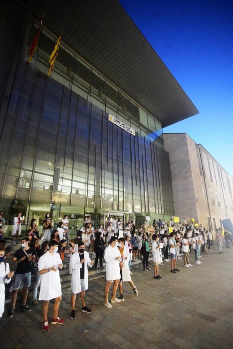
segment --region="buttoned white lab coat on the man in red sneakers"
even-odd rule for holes
[[[38,270],[51,268],[62,264],[59,253],[53,252],[53,255],[47,251],[38,261]],[[61,281],[59,270],[49,271],[41,275],[39,301],[49,301],[50,299],[61,296]]]

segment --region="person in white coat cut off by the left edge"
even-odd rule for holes
[[[4,313],[5,305],[5,284],[8,284],[14,275],[13,271],[9,271],[9,264],[4,262],[5,251],[0,250],[0,318]]]

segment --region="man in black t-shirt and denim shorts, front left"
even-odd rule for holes
[[[28,288],[31,286],[31,263],[35,261],[35,250],[29,247],[29,239],[27,237],[21,240],[21,248],[19,248],[12,258],[12,261],[17,261],[15,279],[12,285],[12,300],[11,309],[8,312],[8,318],[14,315],[15,303],[17,299],[20,284],[23,281],[23,295],[21,310],[29,312],[31,308],[26,304]]]

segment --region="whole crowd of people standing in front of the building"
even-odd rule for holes
[[[15,217],[15,229],[12,235],[12,244],[16,237],[16,244],[20,236],[22,222],[21,212]],[[1,217],[0,217],[1,223]],[[159,219],[153,221],[153,230],[148,231],[148,222],[140,225],[136,230],[134,222],[128,221],[123,229],[121,219],[109,217],[105,225],[100,224],[94,229],[89,216],[85,217],[83,226],[77,231],[76,237],[69,239],[68,216],[65,215],[58,227],[53,229],[52,219],[46,213],[43,222],[43,231],[39,236],[36,219],[32,219],[27,236],[20,241],[21,247],[13,254],[11,265],[16,264],[16,271],[10,271],[5,259],[10,257],[6,252],[6,241],[0,239],[0,317],[4,312],[4,283],[10,283],[11,278],[11,307],[8,317],[13,317],[18,290],[23,282],[21,310],[31,311],[28,305],[28,289],[31,286],[31,273],[36,265],[35,283],[33,284],[32,305],[37,306],[43,301],[42,330],[49,331],[48,304],[53,301],[53,315],[51,324],[63,324],[64,320],[58,317],[59,305],[62,296],[59,270],[63,268],[65,259],[69,259],[69,273],[71,274],[71,306],[70,318],[75,319],[76,295],[80,294],[81,311],[91,313],[86,304],[85,291],[88,289],[88,267],[103,268],[106,263],[106,284],[104,289],[103,305],[112,308],[115,303],[124,301],[123,283],[127,282],[132,293],[138,296],[138,290],[131,279],[131,262],[140,261],[143,271],[151,269],[148,266],[150,252],[152,252],[153,277],[162,279],[159,267],[164,262],[170,262],[171,273],[180,272],[177,268],[177,259],[184,260],[184,267],[190,268],[194,264],[201,265],[203,255],[212,250],[214,240],[218,243],[218,252],[223,253],[223,231],[219,228],[214,234],[201,225],[190,223],[174,224]],[[1,230],[0,230],[1,231]],[[232,247],[232,234],[224,232],[226,246]],[[3,237],[3,234],[2,234]],[[92,257],[95,257],[92,259]],[[170,259],[169,259],[170,257]],[[191,260],[192,259],[192,260]],[[191,264],[191,262],[193,264]],[[98,267],[99,264],[99,267]],[[15,275],[14,275],[15,274]],[[113,284],[112,296],[109,302],[109,289]],[[39,294],[38,294],[39,288]],[[117,297],[117,290],[119,297]]]

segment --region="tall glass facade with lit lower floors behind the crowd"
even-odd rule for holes
[[[0,208],[9,224],[19,209],[26,222],[51,211],[55,221],[68,214],[74,225],[85,212],[102,220],[106,210],[128,212],[136,224],[144,215],[173,215],[161,124],[64,44],[47,78],[53,46],[43,29],[32,64],[26,55],[20,62],[8,104]]]

